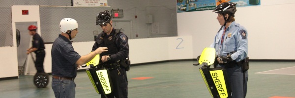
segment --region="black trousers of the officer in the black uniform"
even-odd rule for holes
[[[120,74],[118,75],[118,71]],[[108,94],[108,98],[128,98],[128,80],[126,70],[123,67],[110,71],[110,76],[113,82],[112,93]],[[101,98],[105,98],[101,95]]]

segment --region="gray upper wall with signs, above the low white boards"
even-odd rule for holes
[[[95,25],[96,15],[103,10],[111,11],[112,9],[122,9],[124,13],[123,18],[113,18],[113,20],[131,20],[133,35],[128,36],[130,39],[177,36],[175,0],[108,0],[108,6],[110,7],[87,8],[71,7],[71,0],[1,0],[0,10],[5,14],[0,14],[0,21],[3,21],[3,23],[0,23],[0,38],[2,38],[0,39],[0,46],[12,46],[11,26],[9,26],[11,25],[9,22],[11,22],[10,8],[12,5],[51,6],[39,7],[40,27],[42,28],[41,32],[43,32],[41,37],[45,42],[52,42],[57,37],[60,32],[57,28],[59,28],[59,22],[63,18],[77,20],[80,33],[84,33],[80,38],[73,39],[74,42],[93,41],[93,31],[102,31],[99,26]],[[160,26],[160,31],[165,35],[151,35],[151,26],[146,23],[146,15],[153,15],[153,22],[159,22],[163,25]]]

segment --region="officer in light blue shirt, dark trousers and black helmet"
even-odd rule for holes
[[[248,71],[243,69],[241,63],[248,55],[248,32],[235,21],[236,3],[221,3],[213,12],[218,14],[217,20],[221,25],[210,45],[216,50],[217,67],[226,68],[233,91],[232,98],[245,98]]]

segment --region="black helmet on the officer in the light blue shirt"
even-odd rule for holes
[[[213,12],[215,13],[226,13],[234,15],[236,13],[236,3],[233,2],[223,2],[219,4]]]

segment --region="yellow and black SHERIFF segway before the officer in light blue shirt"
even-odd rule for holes
[[[202,65],[199,68],[202,78],[205,81],[207,89],[213,98],[231,98],[232,90],[228,81],[228,75],[224,68],[210,68],[214,64],[216,52],[213,47],[206,47],[197,65]]]

